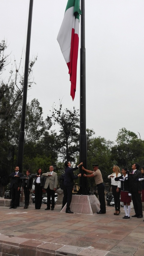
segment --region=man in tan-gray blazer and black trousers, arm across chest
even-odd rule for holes
[[[47,208],[45,210],[50,210],[50,197],[52,197],[52,206],[51,210],[55,208],[55,191],[57,189],[58,177],[57,173],[55,173],[53,166],[49,167],[49,172],[43,173],[42,176],[46,177],[46,182],[44,188],[47,192]]]

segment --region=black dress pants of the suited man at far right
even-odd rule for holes
[[[132,192],[131,198],[133,201],[134,211],[135,211],[136,215],[143,215],[141,194],[139,194],[138,192]]]

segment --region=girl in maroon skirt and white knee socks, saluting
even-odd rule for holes
[[[121,181],[121,202],[124,203],[125,216],[123,219],[130,219],[131,212],[131,177],[127,168],[122,168],[122,176],[116,177],[116,181]],[[128,212],[127,212],[128,206]]]

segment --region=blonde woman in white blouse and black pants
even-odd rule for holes
[[[116,181],[116,177],[120,177],[121,173],[119,170],[119,166],[114,165],[113,166],[113,173],[108,176],[108,179],[111,179],[111,185],[112,185],[112,193],[114,197],[114,202],[115,202],[115,212],[114,215],[119,215],[120,214],[120,193],[121,193],[121,182]]]

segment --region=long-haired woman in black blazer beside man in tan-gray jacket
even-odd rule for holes
[[[42,176],[41,168],[38,169],[37,174],[32,174],[35,177],[33,185],[35,185],[35,209],[41,209],[42,194],[45,184],[45,177]]]

